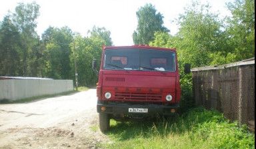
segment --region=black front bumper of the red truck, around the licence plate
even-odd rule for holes
[[[105,107],[105,110],[101,110],[102,107]],[[147,112],[129,112],[129,108],[147,108]],[[97,104],[97,112],[107,113],[107,114],[142,114],[147,116],[171,116],[177,113],[177,108],[179,108],[179,104],[172,105],[159,105],[159,104],[105,104],[99,103]],[[173,110],[174,109],[174,110]]]

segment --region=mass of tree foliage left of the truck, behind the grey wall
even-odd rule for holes
[[[39,39],[35,32],[38,17],[37,3],[19,3],[15,13],[1,22],[0,75],[75,80],[76,49],[79,85],[94,86],[97,76],[91,69],[91,61],[101,61],[101,47],[113,44],[110,31],[94,26],[88,31],[90,37],[81,37],[69,27],[50,26]]]

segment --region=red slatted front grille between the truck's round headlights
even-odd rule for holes
[[[161,101],[162,94],[145,92],[115,92],[115,100],[150,100]]]

